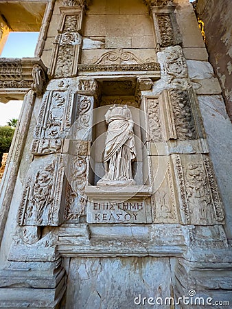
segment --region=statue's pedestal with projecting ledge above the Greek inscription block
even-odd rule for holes
[[[149,201],[151,187],[128,186],[89,186],[88,223],[152,223],[152,209]]]

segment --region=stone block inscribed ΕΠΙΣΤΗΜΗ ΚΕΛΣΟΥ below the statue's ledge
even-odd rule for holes
[[[146,200],[92,202],[87,205],[88,223],[152,223],[151,205]]]

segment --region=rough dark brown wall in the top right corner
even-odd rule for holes
[[[220,10],[217,10],[218,5]],[[222,87],[227,113],[232,115],[231,90],[231,1],[198,0],[196,13],[204,23],[209,61]],[[217,31],[215,31],[215,29]],[[232,118],[231,118],[232,119]]]

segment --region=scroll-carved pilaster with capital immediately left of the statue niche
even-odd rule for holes
[[[85,187],[89,180],[90,144],[93,130],[93,106],[97,100],[97,82],[78,78],[76,122],[67,146],[68,180],[65,220],[80,222],[86,215]]]

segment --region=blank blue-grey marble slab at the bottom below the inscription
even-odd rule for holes
[[[69,266],[66,308],[137,308],[134,299],[139,294],[141,297],[171,297],[171,273],[169,258],[73,258]],[[150,307],[147,303],[143,306]]]

